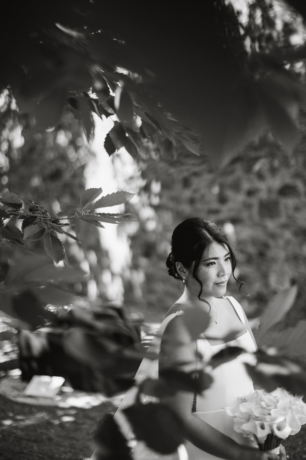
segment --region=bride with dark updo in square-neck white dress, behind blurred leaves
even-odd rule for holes
[[[190,306],[203,309],[211,316],[205,335],[200,334],[193,344],[206,361],[227,345],[240,346],[250,353],[256,351],[245,312],[237,300],[225,296],[230,275],[233,274],[236,280],[234,269],[237,257],[217,225],[200,218],[186,219],[178,224],[172,234],[172,249],[166,265],[169,275],[183,283],[184,293],[167,313],[167,317],[171,315],[173,318],[161,339],[160,368],[176,358],[169,353],[167,355],[167,340],[182,339],[184,334],[180,330],[181,322],[176,321],[177,315],[173,314],[186,311]],[[223,337],[229,334],[233,334],[229,337],[231,340],[224,344]],[[175,355],[175,351],[172,354]],[[163,402],[170,405],[184,421],[189,460],[279,458],[276,454],[262,452],[249,438],[234,431],[233,417],[224,410],[226,406],[241,403],[239,396],[254,390],[244,359],[245,355],[240,355],[215,368],[212,371],[213,383],[203,395],[198,394],[195,398],[189,392],[180,391],[174,397],[164,398]],[[285,449],[281,446],[280,460],[285,459]]]

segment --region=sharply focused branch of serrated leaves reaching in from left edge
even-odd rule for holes
[[[38,241],[44,238],[46,253],[55,261],[56,264],[63,260],[68,264],[65,248],[58,238],[57,234],[61,233],[73,240],[79,242],[78,238],[63,229],[70,226],[71,222],[81,219],[89,224],[104,228],[101,222],[110,224],[120,224],[128,222],[133,216],[130,213],[98,213],[96,210],[103,207],[117,206],[126,203],[133,198],[134,194],[124,191],[111,193],[102,196],[95,201],[102,193],[102,189],[87,189],[80,196],[80,206],[66,205],[64,210],[57,216],[52,216],[43,206],[39,206],[35,201],[29,201],[26,198],[20,198],[11,192],[2,192],[0,194],[0,244],[10,247],[16,247],[20,250],[26,250],[24,242]],[[5,222],[12,217],[22,219],[22,231],[11,221]],[[61,222],[65,220],[66,222]],[[7,273],[6,263],[2,263],[0,280],[4,281]]]

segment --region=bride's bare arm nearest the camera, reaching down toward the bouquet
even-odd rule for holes
[[[191,342],[179,316],[169,322],[161,340],[160,368],[195,360],[196,344]],[[278,455],[241,446],[191,413],[193,393],[178,391],[162,402],[174,410],[184,423],[186,439],[201,450],[226,460],[278,460]]]

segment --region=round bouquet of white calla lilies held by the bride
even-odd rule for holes
[[[306,423],[306,404],[284,388],[272,393],[255,390],[241,398],[244,402],[226,407],[234,415],[234,430],[249,437],[259,449],[279,453],[283,439],[300,431]]]

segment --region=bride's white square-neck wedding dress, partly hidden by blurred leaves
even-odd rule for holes
[[[227,296],[226,298],[233,305],[240,321],[245,325],[245,316],[243,314],[241,305],[233,297]],[[178,314],[179,312],[173,313],[164,319],[149,347],[150,351],[159,351],[161,336],[164,333],[167,324]],[[198,351],[200,351],[206,361],[208,361],[213,354],[217,353],[226,346],[239,346],[244,348],[249,353],[256,351],[256,345],[254,344],[254,341],[247,329],[246,332],[240,337],[226,344],[210,345],[204,338],[198,339],[196,343]],[[229,416],[224,409],[224,407],[235,406],[241,403],[239,397],[242,397],[250,393],[250,391],[254,390],[253,382],[245,370],[244,362],[246,361],[247,358],[246,354],[244,353],[239,355],[234,360],[221,364],[212,370],[211,374],[213,377],[213,383],[207,390],[203,392],[203,395],[197,395],[196,412],[194,413],[194,416],[204,420],[206,423],[221,431],[223,434],[234,439],[237,443],[241,445],[256,447],[249,438],[244,437],[241,433],[234,431],[234,417]],[[152,362],[145,358],[142,361],[136,374],[136,380],[141,380],[144,377],[158,377],[157,360]],[[131,427],[127,422],[127,419],[122,416],[121,411],[134,402],[134,395],[135,388],[132,388],[128,391],[127,395],[122,400],[122,403],[115,415],[115,420],[117,420],[122,433],[129,440],[133,440],[134,435]],[[150,401],[150,397],[146,397],[145,402],[148,401]],[[131,444],[133,445],[133,441]],[[136,444],[136,441],[134,441],[134,444]],[[189,460],[214,460],[219,458],[198,449],[188,441],[185,441],[184,445]],[[171,455],[160,455],[150,451],[150,449],[145,446],[145,443],[137,441],[133,456],[134,460],[177,460],[187,459],[186,451],[184,450],[183,453],[180,453],[180,455],[178,453]],[[94,456],[92,458],[94,459]]]

